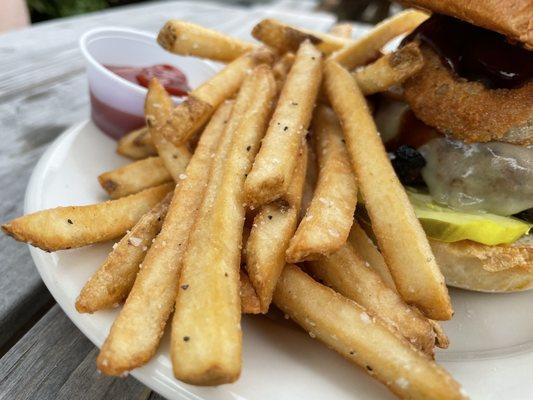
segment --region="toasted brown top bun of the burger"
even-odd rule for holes
[[[533,49],[533,1],[531,0],[399,0],[405,6],[421,8],[462,19],[499,32]]]

